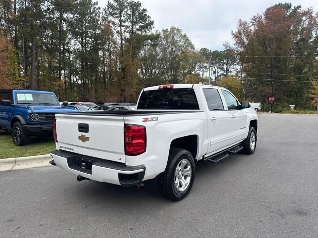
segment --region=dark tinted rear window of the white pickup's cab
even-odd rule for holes
[[[137,109],[199,110],[193,88],[144,91]]]

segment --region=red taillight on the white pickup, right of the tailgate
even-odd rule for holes
[[[140,155],[146,151],[146,128],[142,125],[125,124],[125,155]]]

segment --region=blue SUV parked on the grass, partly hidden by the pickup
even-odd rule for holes
[[[0,129],[12,131],[13,142],[22,146],[30,136],[52,135],[55,113],[77,113],[61,106],[53,92],[37,90],[0,90]]]

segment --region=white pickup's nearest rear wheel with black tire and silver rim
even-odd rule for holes
[[[180,201],[191,191],[194,178],[192,154],[184,149],[171,148],[167,167],[157,178],[161,194],[171,201]]]

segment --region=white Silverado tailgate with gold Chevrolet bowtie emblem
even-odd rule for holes
[[[58,149],[125,163],[124,118],[56,114]]]

